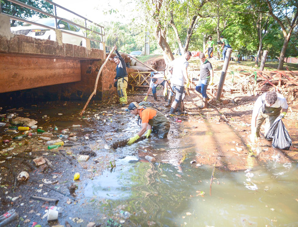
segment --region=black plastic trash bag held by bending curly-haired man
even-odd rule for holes
[[[286,129],[282,117],[278,117],[268,130],[266,139],[272,139],[272,147],[288,151],[292,140]]]

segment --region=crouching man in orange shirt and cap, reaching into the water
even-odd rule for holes
[[[142,129],[134,136],[131,137],[127,144],[133,144],[138,140],[147,130],[145,136],[148,138],[153,131],[153,133],[158,134],[159,139],[164,139],[170,130],[169,120],[158,110],[153,108],[146,108],[144,106],[139,106],[137,102],[132,102],[129,104],[128,109],[131,114],[137,116],[139,115],[139,120],[141,119]],[[138,120],[138,124],[139,124]]]

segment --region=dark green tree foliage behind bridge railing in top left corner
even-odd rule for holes
[[[53,13],[53,5],[47,1],[44,1],[44,0],[19,0],[19,1],[25,4],[28,4],[30,6],[33,6],[35,8],[39,8],[48,13]],[[17,16],[23,19],[31,18],[33,15],[38,15],[40,18],[47,17],[46,15],[40,12],[36,12],[32,9],[25,8],[23,6],[20,6],[8,0],[1,0],[1,11],[8,15]],[[13,27],[20,24],[23,24],[23,22],[11,20],[10,25]]]

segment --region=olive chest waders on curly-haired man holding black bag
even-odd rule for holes
[[[265,102],[263,101],[262,108],[260,108],[257,120],[256,120],[256,133],[257,137],[260,136],[260,128],[263,122],[265,121],[265,137],[267,135],[267,132],[270,128],[270,126],[273,124],[275,119],[280,115],[282,107],[267,107],[265,105]]]

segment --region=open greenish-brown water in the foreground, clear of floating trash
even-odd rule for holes
[[[224,129],[217,125],[218,132]],[[200,151],[188,134],[117,149],[124,158],[116,168],[85,182],[84,209],[96,210],[101,222],[114,217],[127,226],[298,225],[297,163],[280,163],[278,156],[264,163],[249,156],[241,171],[216,168],[210,186],[214,167],[193,162]],[[157,161],[146,161],[142,152]],[[123,219],[120,210],[130,218]]]

